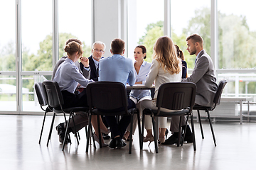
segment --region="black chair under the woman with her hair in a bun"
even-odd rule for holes
[[[63,96],[61,94],[60,87],[58,86],[58,83],[56,81],[43,81],[43,86],[45,87],[45,90],[46,90],[48,104],[50,107],[53,108],[53,120],[50,125],[50,135],[53,130],[55,113],[63,113],[64,115],[65,115],[65,113],[70,114],[68,123],[67,123],[67,127],[68,127],[68,125],[70,123],[70,118],[73,118],[75,112],[85,112],[85,113],[88,112],[89,108],[87,108],[87,107],[63,108],[63,104],[64,104]],[[65,122],[67,122],[66,119],[65,119]],[[74,122],[74,128],[75,128],[74,119],[73,119],[73,122]],[[50,139],[50,135],[48,137],[48,140]],[[64,137],[64,141],[63,141],[63,149],[62,150],[64,150],[65,140],[67,139],[67,135],[68,135],[68,128],[66,128],[66,130],[65,130],[65,137]],[[76,137],[76,139],[78,141],[78,145],[79,145],[77,130],[75,130],[75,137]],[[47,146],[48,146],[48,142],[47,142]]]

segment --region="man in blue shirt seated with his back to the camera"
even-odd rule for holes
[[[111,57],[105,57],[99,64],[99,81],[117,81],[133,86],[135,83],[134,65],[131,59],[124,57],[124,41],[116,38],[111,42]],[[135,103],[128,98],[128,109],[136,108]],[[124,132],[130,123],[129,116],[123,116],[117,123],[114,116],[106,116],[107,124],[110,126],[112,141],[109,147],[121,148],[126,145],[122,141]]]

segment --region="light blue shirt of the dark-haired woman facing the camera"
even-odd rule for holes
[[[147,74],[149,74],[150,67],[151,67],[151,63],[144,61],[139,69],[139,74],[137,74],[134,68],[134,74],[136,77],[135,81],[136,82],[142,81],[142,84],[144,84],[146,81],[146,76]],[[133,98],[136,98],[139,101],[141,98],[144,98],[146,96],[151,97],[151,91],[150,90],[132,90],[130,93],[130,96],[132,96]]]

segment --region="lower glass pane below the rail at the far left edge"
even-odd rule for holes
[[[16,77],[0,76],[0,111],[16,111]]]

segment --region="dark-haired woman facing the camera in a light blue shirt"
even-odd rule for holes
[[[151,66],[151,63],[144,61],[146,59],[146,47],[144,45],[138,45],[134,49],[134,74],[136,77],[135,84],[144,84],[146,80],[147,74],[149,74],[149,69]],[[151,100],[151,91],[150,90],[132,90],[129,94],[129,98],[134,101],[134,103],[137,105],[137,108],[139,108],[139,113],[142,113],[140,109],[140,101],[143,100]],[[133,126],[133,132],[136,130],[137,127],[137,117],[134,116],[133,123],[129,124],[127,131],[124,133],[123,140],[129,140],[130,135],[130,125]]]

